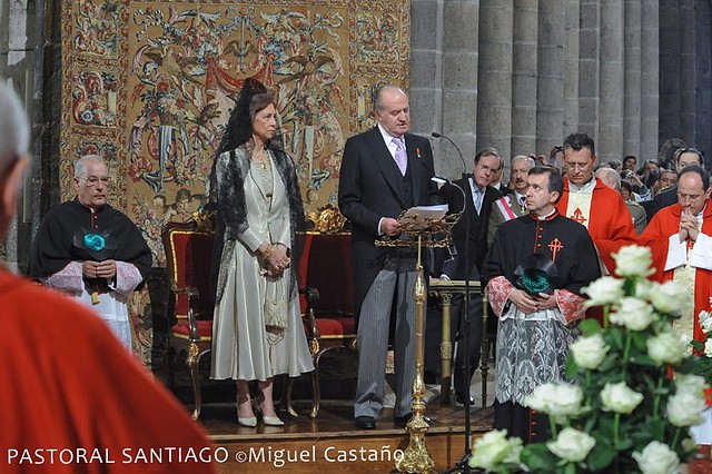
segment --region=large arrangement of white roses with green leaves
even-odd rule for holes
[[[691,307],[690,293],[647,279],[647,247],[624,247],[614,258],[621,278],[602,277],[583,289],[586,307],[602,307],[603,327],[594,319],[580,324],[567,362],[575,384],[545,384],[526,398],[530,408],[548,415],[552,440],[523,446],[505,431],[490,432],[475,442],[472,467],[674,473],[696,453],[689,428],[702,421],[709,385],[694,375],[701,357],[685,352],[671,328]],[[712,329],[709,315],[705,323]]]

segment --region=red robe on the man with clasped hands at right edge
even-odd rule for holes
[[[653,254],[653,267],[656,271],[650,278],[656,282],[671,280],[674,269],[663,271],[668,259],[669,238],[680,230],[680,217],[682,207],[673,204],[655,213],[643,234],[640,244],[650,247]],[[708,199],[702,215],[702,234],[712,236],[712,200]],[[693,334],[696,340],[704,342],[704,334],[700,327],[700,312],[710,309],[710,296],[712,296],[712,270],[698,268],[694,273],[694,320]]]

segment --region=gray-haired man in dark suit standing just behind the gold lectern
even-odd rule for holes
[[[503,195],[490,184],[503,166],[500,152],[494,148],[485,148],[475,155],[472,177],[455,181],[465,191],[465,211],[453,227],[452,235],[457,257],[454,265],[444,267],[444,274],[451,279],[469,278],[479,280],[479,268],[487,255],[487,227],[492,215],[492,205]],[[463,208],[463,194],[455,186],[443,186],[443,200],[451,210]],[[473,292],[474,293],[474,292]],[[473,404],[469,395],[469,382],[479,364],[482,347],[482,296],[477,292],[471,296],[469,314],[469,374],[465,374],[465,318],[462,297],[453,298],[453,314],[461,315],[457,324],[457,352],[455,355],[455,397],[459,403]]]

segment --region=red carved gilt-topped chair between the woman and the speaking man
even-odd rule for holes
[[[322,402],[319,364],[327,352],[356,350],[356,322],[353,314],[352,236],[346,218],[327,205],[307,214],[313,229],[304,233],[299,260],[305,330],[314,357],[312,417]]]

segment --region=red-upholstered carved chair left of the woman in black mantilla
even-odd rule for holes
[[[168,223],[162,230],[169,285],[169,325],[166,366],[168,381],[175,385],[174,358],[186,354],[190,372],[195,409],[200,416],[198,363],[210,352],[215,295],[210,288],[214,214],[194,214],[190,221]]]

